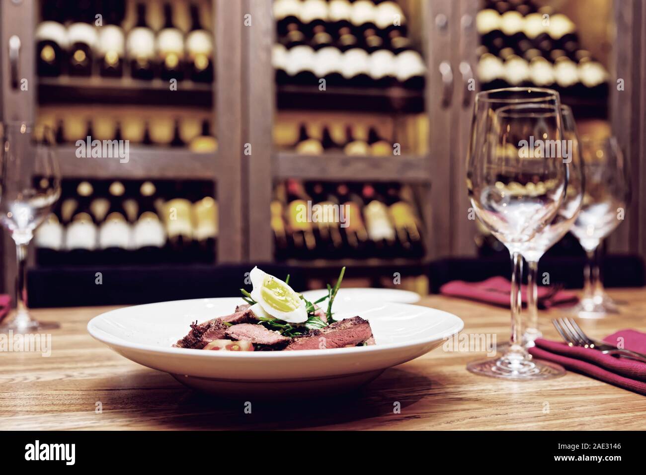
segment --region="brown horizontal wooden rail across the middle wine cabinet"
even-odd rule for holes
[[[430,183],[430,169],[424,156],[308,156],[279,152],[273,159],[273,176],[278,179]]]

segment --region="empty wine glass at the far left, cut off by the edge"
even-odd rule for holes
[[[27,308],[27,249],[34,229],[45,220],[61,194],[54,154],[54,134],[45,126],[23,122],[0,123],[0,221],[16,242],[16,310],[0,332],[16,333],[52,328],[39,324]]]

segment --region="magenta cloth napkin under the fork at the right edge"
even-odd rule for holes
[[[615,346],[620,346],[619,343],[623,341],[623,348],[646,354],[646,333],[637,330],[620,330],[605,337],[603,341]],[[568,370],[646,396],[646,363],[543,338],[534,343],[536,346],[530,348],[529,352],[536,358],[553,361]]]

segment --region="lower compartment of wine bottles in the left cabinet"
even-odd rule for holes
[[[213,182],[63,180],[54,213],[36,231],[38,266],[213,263]]]

